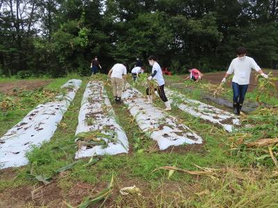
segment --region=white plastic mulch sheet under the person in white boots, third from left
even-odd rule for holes
[[[126,89],[122,100],[128,105],[129,112],[135,117],[139,127],[144,132],[149,132],[161,150],[181,144],[202,144],[201,137],[179,123],[178,119],[148,103],[147,98],[137,89]]]

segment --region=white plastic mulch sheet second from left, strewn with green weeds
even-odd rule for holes
[[[117,155],[128,153],[129,141],[124,130],[115,120],[115,112],[99,81],[88,83],[83,94],[82,106],[79,112],[79,125],[76,135],[80,132],[99,131],[106,135],[115,135],[116,140],[109,142],[108,146],[79,145],[75,158],[92,157],[92,155]]]

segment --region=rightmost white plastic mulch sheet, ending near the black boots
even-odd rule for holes
[[[207,105],[200,101],[190,100],[179,92],[172,91],[165,88],[165,94],[170,98],[170,102],[173,105],[177,105],[180,110],[188,112],[189,114],[210,121],[211,123],[217,123],[231,132],[234,125],[240,125],[239,119],[236,115],[220,110],[219,108]]]

